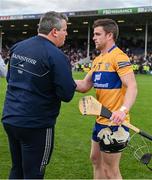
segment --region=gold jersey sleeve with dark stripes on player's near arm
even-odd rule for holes
[[[120,53],[115,57],[114,66],[119,76],[133,72],[129,57],[125,53]]]

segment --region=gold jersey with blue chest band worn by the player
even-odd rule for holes
[[[126,92],[120,77],[131,72],[133,70],[128,56],[116,45],[106,54],[96,57],[89,73],[92,74],[97,100],[111,111],[118,110],[123,104]],[[129,114],[126,121],[129,121]],[[109,124],[109,120],[98,116],[97,123]]]

